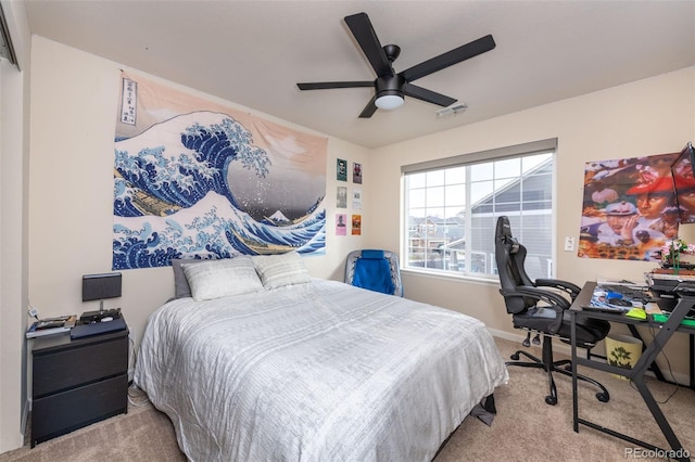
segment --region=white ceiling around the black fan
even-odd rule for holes
[[[33,34],[252,110],[377,147],[695,65],[695,1],[26,0]],[[468,105],[406,98],[357,116],[372,80],[343,17],[366,12],[394,69],[492,34],[497,47],[416,80]],[[692,95],[690,95],[692,98]]]

